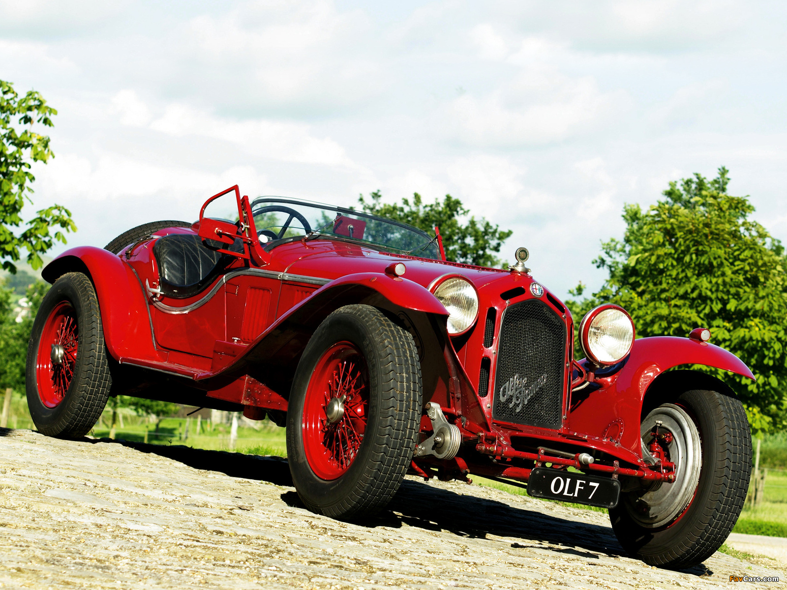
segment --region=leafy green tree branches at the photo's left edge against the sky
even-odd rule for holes
[[[54,115],[57,111],[35,90],[20,97],[11,83],[0,80],[0,257],[6,258],[2,267],[12,273],[17,271],[13,262],[20,260],[20,248],[28,251],[28,263],[37,269],[43,264],[40,255],[54,240],[65,244],[61,230],[76,231],[71,212],[61,205],[40,209],[27,222],[21,217],[25,201],[33,202],[31,162],[46,163],[54,157],[49,136],[34,131],[34,126],[53,127]],[[14,230],[23,223],[17,235]]]

